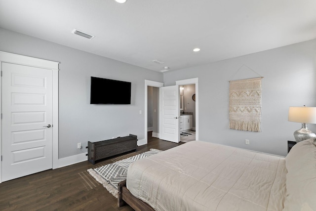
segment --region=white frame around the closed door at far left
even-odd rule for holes
[[[2,62],[39,67],[52,71],[52,169],[58,168],[58,71],[59,62],[0,51],[0,71]],[[2,80],[0,80],[0,111],[2,111]],[[2,158],[2,121],[0,121],[0,155]],[[0,183],[2,182],[2,162],[0,162]]]

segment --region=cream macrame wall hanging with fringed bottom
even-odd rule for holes
[[[261,132],[262,78],[230,81],[230,129]]]

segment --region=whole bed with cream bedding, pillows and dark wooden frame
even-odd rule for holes
[[[316,145],[284,158],[192,141],[134,162],[118,189],[136,211],[316,211]]]

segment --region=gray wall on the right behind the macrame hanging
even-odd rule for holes
[[[262,132],[229,129],[229,81],[258,75],[264,77]],[[166,72],[164,84],[190,78],[198,78],[199,140],[285,156],[287,140],[301,127],[287,121],[288,108],[316,107],[316,40]],[[316,125],[308,127],[316,131]]]

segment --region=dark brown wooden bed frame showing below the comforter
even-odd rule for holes
[[[155,211],[147,203],[133,196],[126,187],[126,179],[118,183],[118,207],[128,204],[135,211]]]

